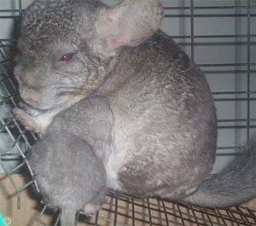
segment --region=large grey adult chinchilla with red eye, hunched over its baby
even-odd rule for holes
[[[109,8],[90,0],[37,0],[21,24],[20,96],[46,130],[53,115],[90,97],[113,111],[108,187],[201,206],[256,194],[255,151],[216,177],[216,111],[201,70],[164,32],[158,0]],[[29,128],[29,127],[28,127]]]

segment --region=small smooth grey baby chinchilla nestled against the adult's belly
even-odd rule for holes
[[[56,115],[32,147],[29,164],[44,200],[61,208],[61,226],[74,225],[81,209],[95,214],[104,202],[106,172],[96,153],[102,154],[103,143],[109,142],[112,121],[105,101],[81,101]]]

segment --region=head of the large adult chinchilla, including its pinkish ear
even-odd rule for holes
[[[161,19],[160,0],[36,0],[21,21],[21,98],[47,110],[99,92],[121,47],[142,43]]]

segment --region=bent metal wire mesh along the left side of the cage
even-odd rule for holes
[[[1,42],[1,46],[6,46]],[[7,44],[9,46],[9,44]],[[36,140],[36,136],[27,132],[15,121],[12,115],[13,107],[17,107],[15,97],[17,96],[17,86],[15,81],[10,76],[12,74],[11,65],[6,58],[5,49],[0,49],[0,133],[8,136],[7,146],[0,150],[0,165],[9,177],[10,182],[15,188],[18,208],[20,208],[20,192],[33,183],[27,183],[25,186],[19,188],[12,177],[12,174],[17,171],[30,170],[26,160],[26,153],[31,148],[32,142]],[[15,167],[10,167],[9,163],[12,161],[19,162]]]

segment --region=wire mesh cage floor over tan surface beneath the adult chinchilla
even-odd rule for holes
[[[38,222],[44,222],[38,216]],[[256,225],[256,212],[246,207],[236,206],[217,210],[186,206],[164,200],[139,200],[125,194],[109,192],[107,202],[96,217],[86,221],[87,225],[122,225],[122,226],[169,226],[169,225]],[[56,223],[58,222],[58,218]]]

